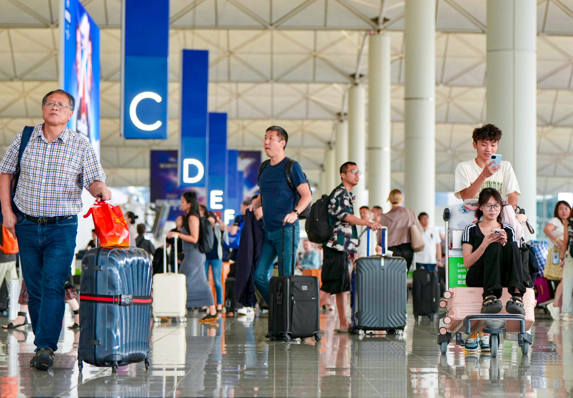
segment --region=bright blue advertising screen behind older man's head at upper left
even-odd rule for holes
[[[68,127],[88,137],[100,156],[100,29],[77,0],[65,0],[60,87],[76,106]]]

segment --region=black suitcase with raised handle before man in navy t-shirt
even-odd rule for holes
[[[285,259],[285,231],[282,226],[282,262]],[[295,268],[295,225],[291,274]],[[282,266],[278,267],[279,271]],[[269,282],[269,334],[273,340],[315,337],[320,341],[319,279],[306,275],[280,275]]]

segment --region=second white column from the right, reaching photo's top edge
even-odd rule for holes
[[[435,0],[406,0],[405,206],[435,223]]]

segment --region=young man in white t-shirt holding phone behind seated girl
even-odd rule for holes
[[[457,165],[454,176],[456,198],[477,199],[484,188],[492,187],[500,192],[503,199],[517,204],[517,195],[521,193],[511,163],[502,160],[499,166],[493,167],[493,161],[490,161],[490,156],[497,151],[501,130],[493,124],[484,124],[474,129],[472,138],[477,156]]]

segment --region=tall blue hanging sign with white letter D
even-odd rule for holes
[[[181,64],[181,134],[179,141],[179,185],[205,187],[209,174],[209,52],[183,50]]]

